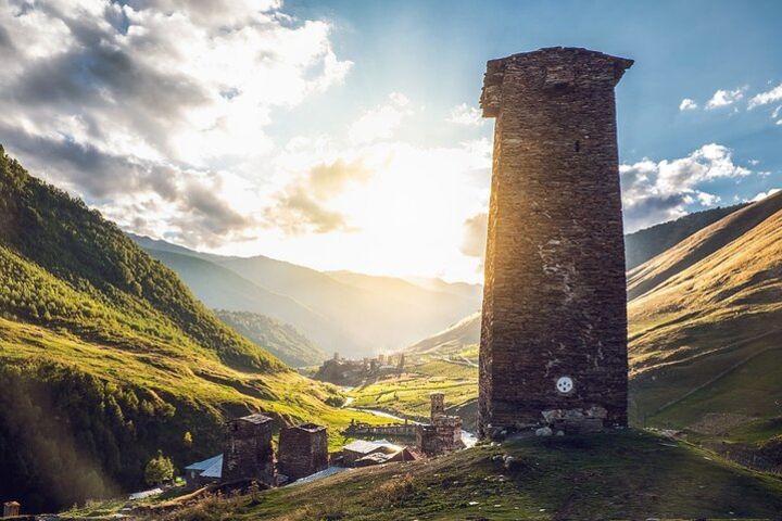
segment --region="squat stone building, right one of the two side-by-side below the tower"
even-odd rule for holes
[[[299,480],[328,467],[326,428],[303,423],[280,431],[278,467],[282,474]]]

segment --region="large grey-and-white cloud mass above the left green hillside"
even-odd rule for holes
[[[352,66],[330,31],[277,1],[0,2],[0,142],[130,229],[238,240],[272,112]]]

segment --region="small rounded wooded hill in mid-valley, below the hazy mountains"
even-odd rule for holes
[[[328,355],[293,326],[248,312],[215,312],[220,320],[293,367],[320,364]]]

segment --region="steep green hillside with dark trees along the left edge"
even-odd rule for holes
[[[344,425],[357,415],[1,150],[0,389],[0,497],[27,511],[141,486],[159,448],[178,467],[212,455],[226,417]]]

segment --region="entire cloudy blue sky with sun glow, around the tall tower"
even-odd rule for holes
[[[0,0],[0,144],[123,229],[480,281],[485,62],[635,61],[626,231],[782,188],[782,2]]]

